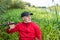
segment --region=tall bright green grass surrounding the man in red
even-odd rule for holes
[[[37,23],[40,26],[42,31],[43,40],[60,40],[60,16],[58,16],[58,22],[56,19],[56,15],[53,13],[48,13],[46,10],[39,8],[26,8],[26,9],[9,9],[5,14],[1,15],[2,19],[0,23],[5,23],[7,21],[21,22],[22,19],[20,14],[23,11],[32,12],[34,15],[32,17],[32,21]],[[4,30],[7,27],[0,27],[0,40],[18,40],[18,34],[7,34]],[[16,36],[16,37],[15,37]]]

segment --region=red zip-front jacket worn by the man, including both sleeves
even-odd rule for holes
[[[39,29],[38,25],[33,22],[18,23],[14,29],[9,30],[9,28],[7,28],[6,31],[9,34],[18,31],[19,40],[35,40],[35,38],[42,40],[41,30]]]

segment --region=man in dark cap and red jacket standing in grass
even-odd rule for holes
[[[31,21],[31,15],[29,12],[23,12],[21,14],[23,22],[9,25],[9,28],[6,29],[7,33],[18,32],[19,40],[42,40],[41,30],[36,23]]]

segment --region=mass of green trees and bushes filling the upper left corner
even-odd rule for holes
[[[22,0],[0,0],[0,15],[12,8],[24,9],[25,3]]]

